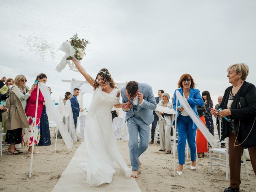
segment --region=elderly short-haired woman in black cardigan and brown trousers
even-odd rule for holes
[[[228,67],[228,82],[232,86],[225,90],[219,112],[212,108],[211,113],[223,119],[223,134],[220,140],[229,138],[230,186],[224,192],[238,192],[241,183],[241,156],[248,148],[252,168],[256,174],[256,88],[246,82],[249,67],[234,64]],[[224,118],[225,117],[225,118]]]

